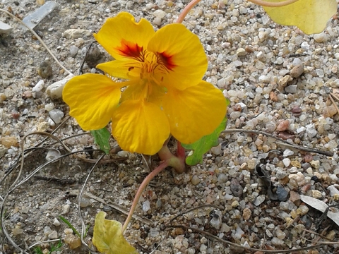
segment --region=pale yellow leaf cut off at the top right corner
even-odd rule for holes
[[[285,0],[266,0],[282,2]],[[337,11],[335,0],[299,0],[283,7],[263,7],[275,23],[296,25],[307,35],[320,33]]]

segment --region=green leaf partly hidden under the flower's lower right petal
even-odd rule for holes
[[[227,106],[230,104],[230,101],[227,99]],[[182,144],[182,146],[187,150],[194,150],[193,155],[186,157],[186,164],[194,166],[198,163],[203,162],[203,155],[210,150],[211,147],[214,147],[219,144],[218,138],[222,131],[225,130],[227,123],[227,117],[222,120],[218,128],[210,133],[210,135],[205,135],[200,140],[191,143],[189,145]]]

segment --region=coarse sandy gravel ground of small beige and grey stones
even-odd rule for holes
[[[157,29],[172,23],[187,3],[61,0],[58,4],[35,31],[61,63],[71,73],[78,74],[85,47],[93,42],[91,34],[100,29],[105,18],[129,11],[137,18],[147,18]],[[0,2],[0,8],[13,11],[18,18],[38,7],[35,1],[28,0]],[[11,35],[1,37],[0,44],[0,174],[5,176],[20,153],[19,144],[25,135],[34,131],[52,133],[59,126],[50,119],[49,111],[58,109],[64,113],[61,120],[66,119],[66,104],[49,97],[46,90],[67,73],[29,31],[25,32],[4,14],[0,14],[0,20],[13,26]],[[178,217],[174,224],[196,226],[224,240],[254,248],[281,250],[310,246],[319,240],[316,233],[327,236],[326,241],[338,241],[338,225],[331,219],[317,225],[321,212],[299,197],[307,195],[328,204],[338,202],[338,194],[328,191],[328,186],[335,189],[339,183],[338,114],[329,98],[330,92],[338,92],[339,85],[337,23],[338,20],[332,20],[321,35],[304,35],[297,28],[275,25],[261,8],[243,1],[203,1],[189,13],[184,24],[201,38],[208,54],[205,78],[224,90],[231,101],[227,128],[266,131],[295,145],[334,154],[328,157],[286,147],[260,133],[223,133],[220,146],[206,155],[203,164],[181,175],[168,169],[148,187],[136,210],[143,221],[133,220],[126,233],[140,253],[150,253],[155,248],[153,253],[244,253],[191,230],[172,229],[168,234],[164,230],[163,225],[174,215],[206,204],[207,207]],[[86,31],[76,37],[66,32],[69,29]],[[96,61],[108,59],[100,47],[97,50],[100,53],[93,53],[95,59],[85,63],[84,72],[90,71]],[[52,67],[49,78],[37,73],[43,61]],[[42,90],[33,89],[40,80],[44,80]],[[69,119],[54,135],[67,138],[81,133],[76,122]],[[25,139],[25,149],[34,147],[43,138],[29,136]],[[49,139],[47,143],[54,141]],[[80,151],[93,145],[93,139],[79,135],[65,140],[64,144],[69,150]],[[267,156],[270,150],[275,152]],[[47,162],[47,152],[66,154],[60,143],[49,146],[45,143],[34,151],[25,159],[20,180]],[[99,154],[80,152],[79,156],[91,159]],[[266,160],[258,170],[272,182],[272,193],[256,174],[256,165],[262,157]],[[139,155],[120,152],[105,159],[119,160],[100,164],[85,187],[87,193],[97,197],[85,195],[82,202],[83,219],[90,226],[88,239],[99,210],[107,211],[109,219],[124,221],[124,215],[107,204],[129,210],[139,183],[148,173]],[[153,166],[157,162],[154,157]],[[59,215],[80,229],[77,199],[72,193],[83,186],[91,167],[93,164],[74,156],[65,157],[36,174],[64,182],[32,177],[9,193],[4,204],[4,224],[13,242],[28,251],[39,241],[64,238],[68,226],[63,222],[59,225],[56,221]],[[2,198],[18,171],[16,167],[11,177],[1,182]],[[2,248],[3,253],[14,253],[13,244],[8,241],[4,241]],[[49,244],[43,243],[42,248],[49,248]],[[309,253],[339,253],[338,245],[312,251]],[[64,245],[61,253],[88,252],[85,248],[69,250]]]

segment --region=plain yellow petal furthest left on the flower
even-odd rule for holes
[[[99,130],[109,123],[120,99],[120,87],[105,75],[78,75],[66,83],[62,92],[69,114],[85,131]]]

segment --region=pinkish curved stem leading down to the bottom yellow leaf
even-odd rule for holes
[[[152,181],[152,179],[159,174],[162,170],[166,169],[166,167],[169,165],[168,161],[163,162],[160,164],[156,169],[154,169],[148,176],[146,176],[145,179],[143,179],[143,182],[138,188],[138,191],[136,192],[136,196],[134,197],[133,203],[131,205],[131,209],[129,210],[129,215],[127,216],[127,219],[124,223],[124,226],[122,226],[122,233],[124,234],[124,231],[126,230],[127,226],[129,225],[129,222],[131,221],[132,215],[134,213],[134,210],[136,210],[136,205],[138,205],[138,201],[141,197],[141,194],[145,190],[146,186],[148,186],[148,183]]]

